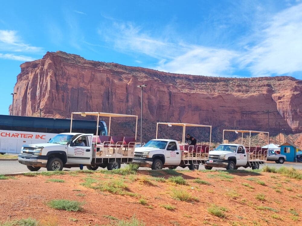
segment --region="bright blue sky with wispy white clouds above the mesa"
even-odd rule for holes
[[[0,114],[19,65],[57,50],[173,73],[302,79],[302,1],[2,1]]]

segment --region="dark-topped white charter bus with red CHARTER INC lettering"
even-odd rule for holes
[[[96,133],[97,121],[72,120],[72,132]],[[0,115],[0,154],[20,153],[24,144],[46,143],[58,133],[70,132],[70,119]],[[107,136],[99,122],[98,135]]]

